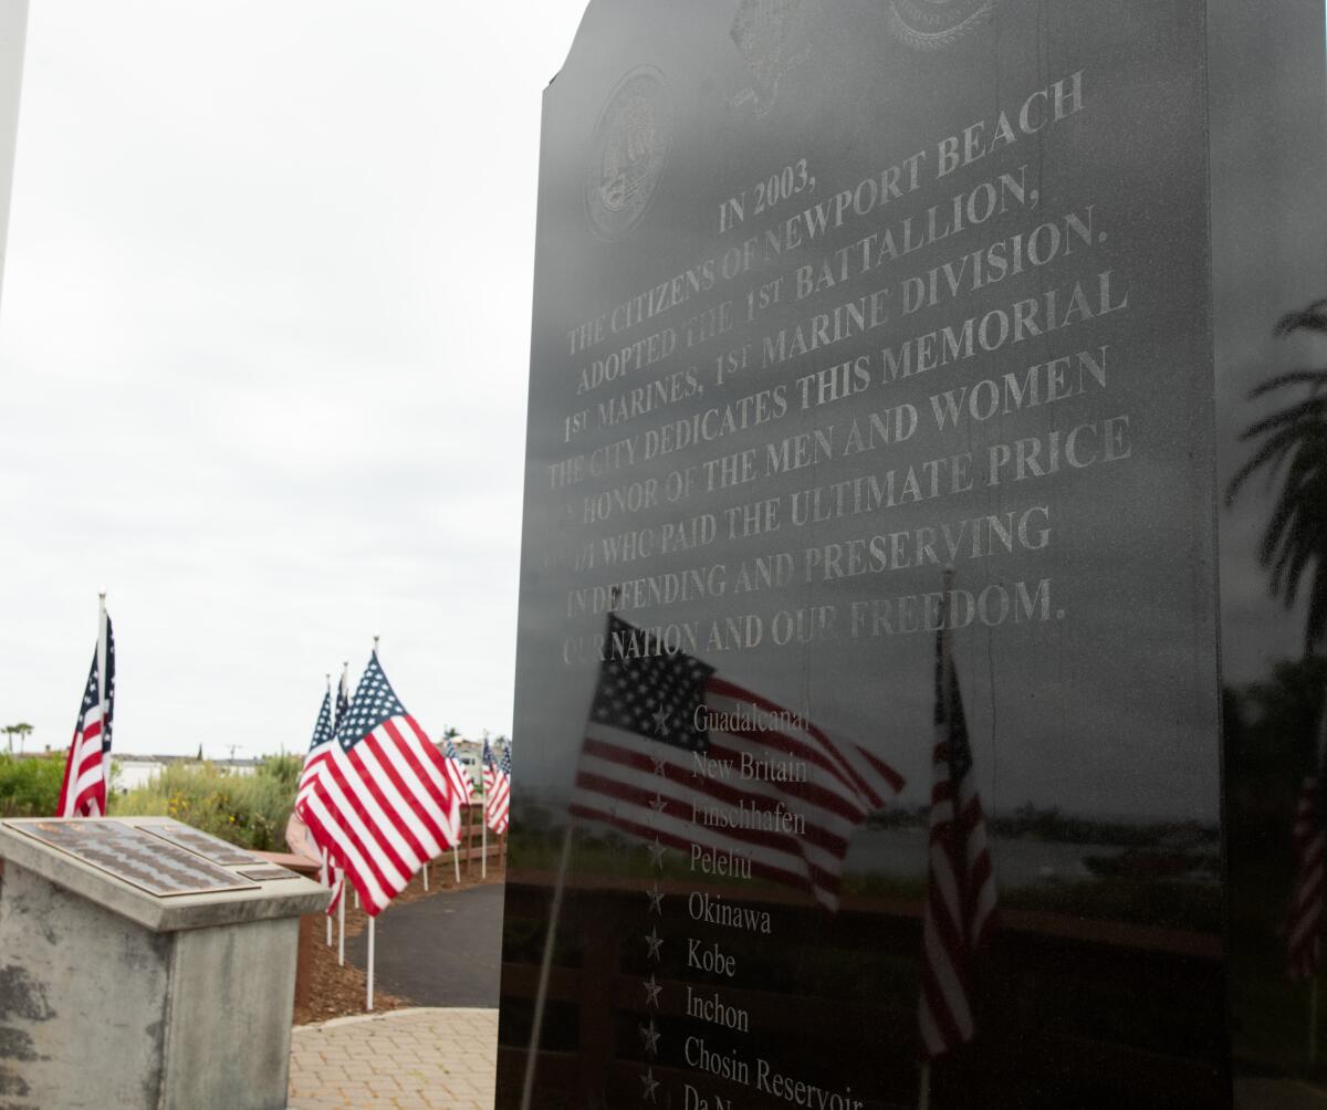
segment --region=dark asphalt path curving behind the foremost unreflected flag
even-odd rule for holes
[[[378,916],[374,984],[421,1007],[498,1005],[502,883],[439,891]],[[346,938],[346,959],[364,969],[368,930]]]

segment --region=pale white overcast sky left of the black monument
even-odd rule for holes
[[[40,0],[0,313],[0,724],[303,749],[381,658],[511,727],[540,94],[584,0]],[[459,15],[463,11],[464,15]]]

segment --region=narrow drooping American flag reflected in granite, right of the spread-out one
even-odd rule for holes
[[[967,1044],[977,1032],[973,965],[995,924],[995,875],[947,631],[936,638],[932,767],[930,869],[918,1005],[922,1054],[928,1060]]]

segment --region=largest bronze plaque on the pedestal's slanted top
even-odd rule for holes
[[[157,898],[257,889],[257,883],[121,821],[81,818],[4,824]]]

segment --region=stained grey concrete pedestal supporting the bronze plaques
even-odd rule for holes
[[[304,878],[157,898],[0,825],[0,1106],[285,1106]]]

